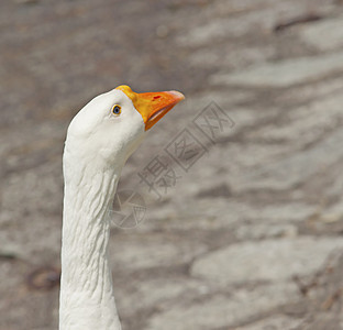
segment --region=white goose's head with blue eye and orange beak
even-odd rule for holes
[[[65,157],[121,167],[146,132],[184,98],[175,90],[137,94],[125,85],[97,96],[71,120]]]

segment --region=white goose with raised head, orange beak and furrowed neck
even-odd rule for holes
[[[60,330],[120,330],[108,261],[121,169],[178,91],[136,94],[129,86],[96,97],[73,119],[65,143]]]

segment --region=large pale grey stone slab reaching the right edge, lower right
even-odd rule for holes
[[[192,276],[224,284],[254,280],[286,280],[312,274],[323,266],[343,239],[302,237],[234,244],[196,260]]]

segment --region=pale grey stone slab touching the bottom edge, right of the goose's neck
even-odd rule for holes
[[[230,327],[267,312],[299,298],[298,288],[290,283],[241,289],[230,296],[218,295],[202,302],[166,309],[151,319],[150,330],[209,330]]]

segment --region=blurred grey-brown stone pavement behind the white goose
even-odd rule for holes
[[[120,183],[147,202],[111,235],[123,329],[343,329],[342,1],[4,0],[0,26],[0,330],[57,329],[27,282],[58,273],[66,128],[120,84],[187,96]],[[174,139],[196,162],[157,201],[135,180]]]

